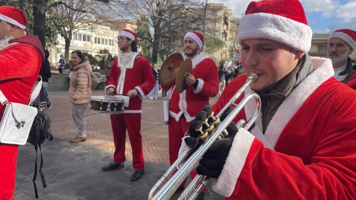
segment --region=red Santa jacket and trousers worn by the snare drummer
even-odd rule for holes
[[[134,52],[131,54],[136,57]],[[135,54],[135,55],[134,55]],[[114,60],[108,85],[115,88],[115,93],[118,94],[122,84],[120,66],[117,65],[117,58]],[[155,86],[156,80],[152,74],[149,61],[141,55],[138,55],[134,61],[132,69],[126,69],[123,94],[127,94],[129,90],[136,89],[138,95],[130,98],[129,107],[125,108],[123,114],[110,115],[112,134],[114,137],[114,162],[124,162],[125,157],[125,140],[126,130],[128,130],[130,144],[132,147],[133,168],[135,170],[144,169],[144,159],[142,151],[142,136],[141,136],[141,104],[142,99],[150,93]]]

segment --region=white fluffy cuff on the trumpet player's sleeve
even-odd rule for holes
[[[249,131],[239,128],[232,142],[229,155],[218,180],[213,183],[213,190],[228,197],[231,196],[236,182],[244,169],[247,155],[250,152],[252,142],[255,139]]]

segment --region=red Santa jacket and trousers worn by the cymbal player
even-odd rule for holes
[[[184,59],[187,59],[187,56],[184,56]],[[175,85],[172,85],[173,87],[162,85],[163,90],[169,90],[172,87],[168,123],[170,164],[178,157],[182,138],[188,130],[189,122],[204,106],[209,105],[209,98],[216,96],[219,91],[218,70],[212,59],[199,53],[192,59],[192,66],[191,74],[198,80],[196,89],[189,86],[179,94],[175,90]]]

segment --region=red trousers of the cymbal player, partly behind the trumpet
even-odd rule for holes
[[[183,115],[182,115],[183,116]],[[170,165],[178,158],[179,149],[181,148],[182,138],[186,134],[189,128],[189,122],[185,118],[181,118],[179,121],[175,121],[172,116],[169,116],[169,125],[168,125],[168,143],[169,143],[169,162]],[[193,170],[190,173],[192,180],[197,175],[196,171]],[[187,179],[184,179],[180,188],[184,187]],[[203,189],[203,192],[205,188]]]

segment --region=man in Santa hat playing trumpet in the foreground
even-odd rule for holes
[[[356,92],[333,78],[330,59],[308,55],[311,38],[298,0],[249,4],[238,41],[246,74],[259,76],[245,96],[259,94],[262,112],[250,131],[215,141],[196,169],[227,199],[356,198]],[[213,111],[245,82],[232,80]],[[254,111],[248,103],[233,122]]]

